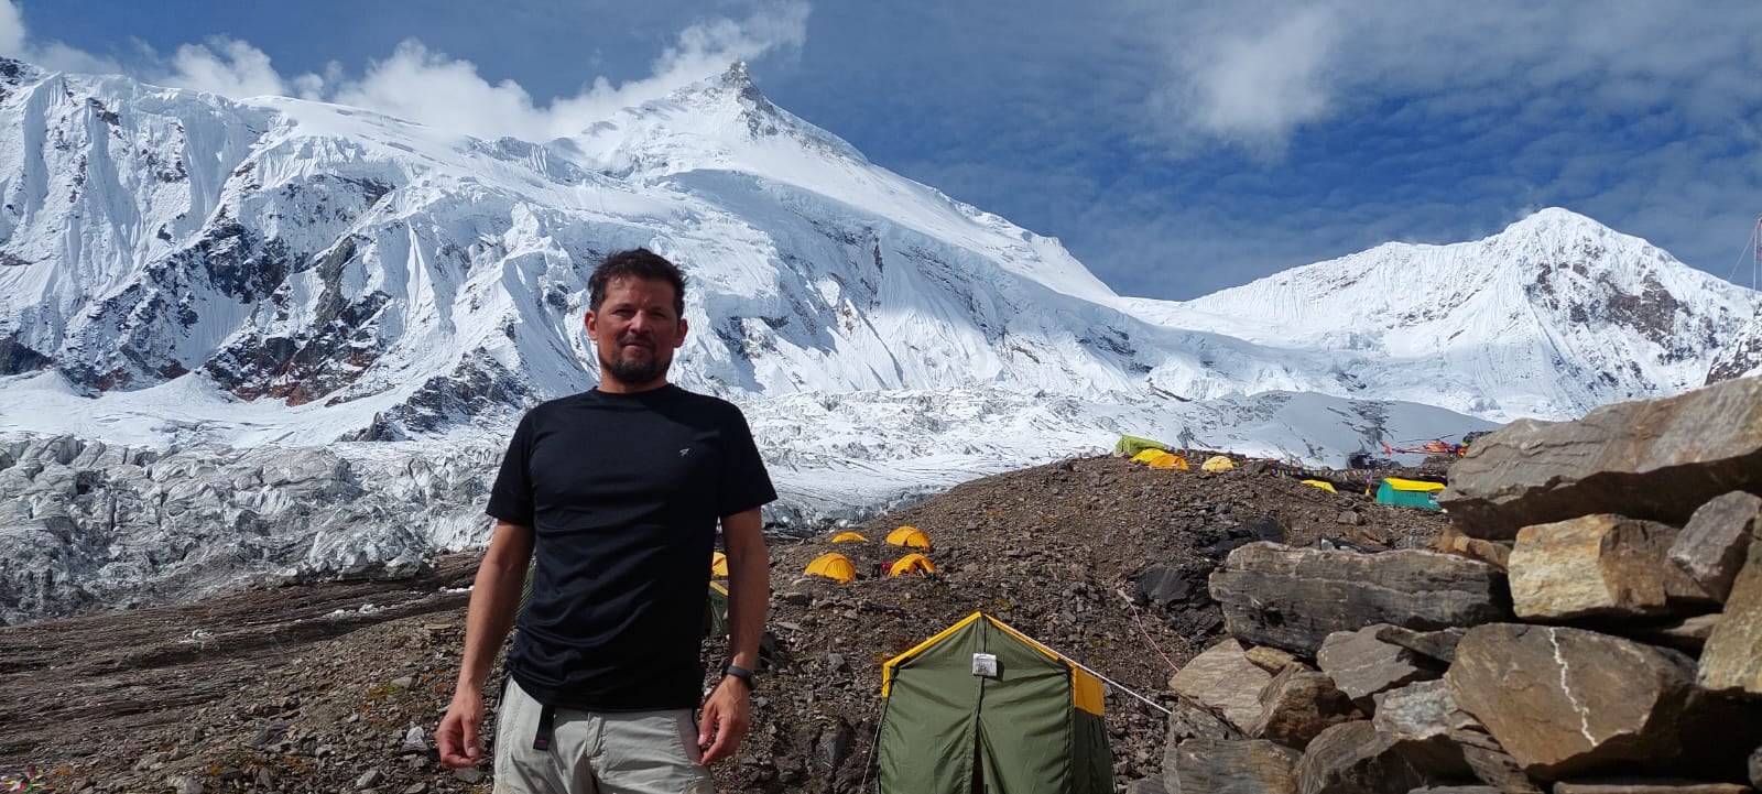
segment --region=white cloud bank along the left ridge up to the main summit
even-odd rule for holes
[[[171,58],[148,51],[150,63],[137,72],[153,83],[231,99],[278,93],[359,106],[469,136],[546,141],[710,77],[735,60],[798,53],[807,39],[807,18],[805,0],[774,0],[745,19],[703,19],[678,33],[654,60],[650,76],[622,85],[597,77],[581,93],[548,104],[534,102],[515,81],[490,83],[476,63],[449,58],[414,39],[389,58],[366,63],[359,76],[331,63],[324,74],[285,77],[264,51],[226,37],[185,44]],[[60,42],[32,42],[12,0],[0,0],[0,53],[16,53],[48,69],[123,72],[107,58]]]

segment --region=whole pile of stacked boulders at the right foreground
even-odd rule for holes
[[[1256,542],[1129,792],[1762,785],[1762,379],[1514,423],[1434,551]]]

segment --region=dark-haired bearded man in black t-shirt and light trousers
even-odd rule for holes
[[[777,493],[740,410],[668,384],[684,312],[671,262],[643,248],[606,257],[585,319],[599,386],[532,408],[507,445],[435,736],[446,766],[478,762],[483,685],[536,560],[497,722],[497,794],[708,792],[705,766],[745,736],[770,599],[759,505]],[[717,521],[729,657],[694,729]]]

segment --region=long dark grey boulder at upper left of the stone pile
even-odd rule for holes
[[[1232,636],[1307,658],[1334,632],[1376,623],[1436,630],[1510,614],[1505,572],[1417,549],[1353,555],[1256,542],[1230,553],[1210,592]]]

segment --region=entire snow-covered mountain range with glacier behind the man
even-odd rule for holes
[[[30,495],[0,516],[0,551],[19,551],[0,576],[39,577],[18,595],[37,606],[0,618],[74,609],[93,577],[187,597],[481,542],[470,495],[490,472],[460,461],[594,384],[585,278],[636,245],[687,269],[673,379],[747,410],[779,521],[1119,433],[1337,463],[1577,415],[1699,384],[1762,306],[1559,210],[1198,301],[1121,298],[1055,239],[777,107],[738,65],[527,143],[0,62],[0,488]],[[136,451],[72,451],[92,442]],[[264,445],[329,449],[289,479],[250,454]],[[65,495],[79,461],[106,486]],[[189,472],[211,488],[167,481]],[[282,481],[349,507],[264,518],[292,507],[264,486]],[[164,511],[173,491],[183,507]],[[287,535],[190,556],[234,525]]]

